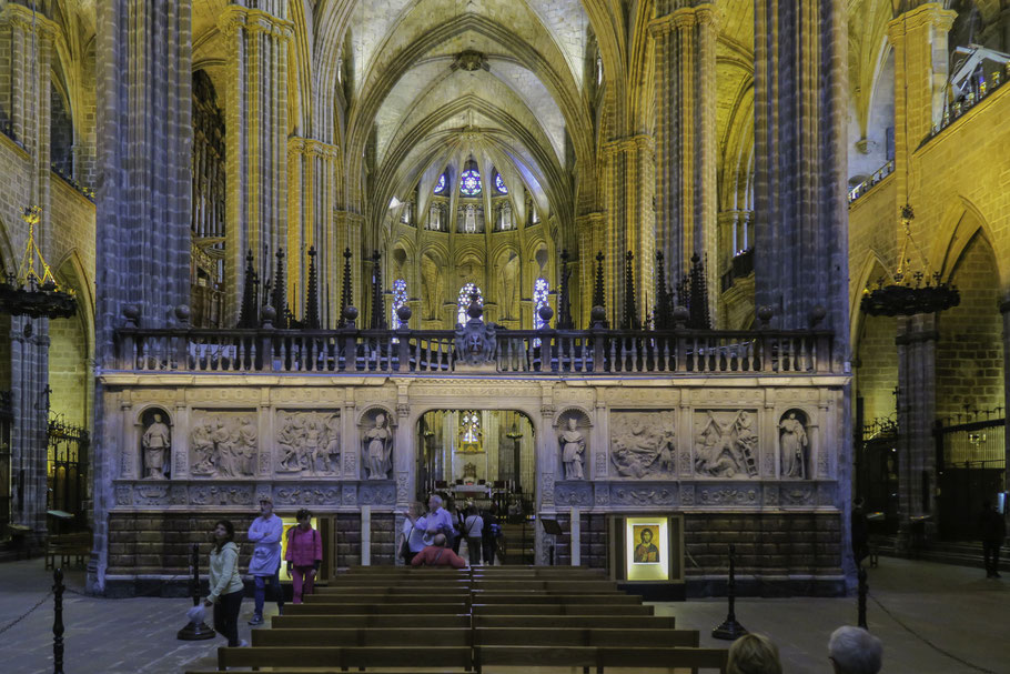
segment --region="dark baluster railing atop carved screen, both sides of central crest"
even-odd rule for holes
[[[831,333],[811,330],[503,330],[496,372],[523,374],[831,373]],[[450,373],[451,330],[123,328],[112,370],[139,372]]]

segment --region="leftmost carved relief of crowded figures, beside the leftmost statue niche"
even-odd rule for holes
[[[202,410],[193,413],[190,473],[202,477],[251,477],[256,472],[256,413]]]

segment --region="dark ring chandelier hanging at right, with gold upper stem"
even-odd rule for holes
[[[929,278],[929,262],[912,239],[911,222],[916,214],[908,203],[901,209],[901,224],[905,228],[905,243],[898,258],[898,269],[892,276],[893,283],[885,284],[881,278],[873,291],[865,291],[860,309],[871,316],[910,316],[917,313],[936,313],[961,303],[961,293],[957,286],[941,281],[940,272]],[[908,273],[910,259],[907,256],[909,243],[915,247],[922,261],[923,271]],[[926,280],[923,284],[923,279]]]

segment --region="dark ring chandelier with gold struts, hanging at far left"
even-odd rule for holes
[[[69,319],[77,313],[77,298],[72,291],[60,288],[36,244],[36,225],[41,215],[42,209],[37,205],[21,213],[21,219],[28,223],[28,242],[18,273],[9,273],[0,280],[0,312],[32,319]]]

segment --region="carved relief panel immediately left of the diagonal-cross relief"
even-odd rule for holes
[[[674,471],[669,412],[623,412],[610,419],[610,461],[623,477],[664,479]]]

